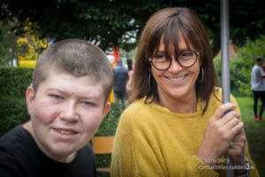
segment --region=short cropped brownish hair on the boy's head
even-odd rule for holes
[[[102,84],[106,100],[113,87],[113,73],[107,56],[100,48],[84,40],[66,39],[43,51],[32,77],[35,92],[40,83],[49,77],[51,70],[71,73],[76,77],[91,77]]]

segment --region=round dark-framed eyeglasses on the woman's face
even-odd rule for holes
[[[199,51],[184,50],[178,53],[175,59],[177,60],[178,65],[181,65],[182,67],[191,67],[196,63],[199,54]],[[155,56],[148,58],[148,60],[155,69],[160,71],[169,69],[172,63],[172,58],[166,56],[163,52],[156,53]]]

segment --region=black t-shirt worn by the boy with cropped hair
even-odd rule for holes
[[[32,135],[17,126],[0,138],[0,176],[3,177],[90,177],[95,174],[95,156],[90,144],[78,151],[70,163],[47,157]]]

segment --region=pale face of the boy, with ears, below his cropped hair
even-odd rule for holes
[[[76,150],[94,135],[110,110],[101,83],[90,77],[52,72],[37,92],[27,89],[34,140],[42,151],[57,161],[71,161]]]

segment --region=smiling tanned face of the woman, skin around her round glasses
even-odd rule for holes
[[[179,43],[179,50],[187,50],[186,43]],[[157,53],[164,53],[165,46],[160,42]],[[200,73],[200,58],[190,67],[182,67],[174,58],[176,52],[171,52],[171,65],[165,71],[159,71],[151,65],[151,71],[155,78],[159,99],[170,98],[175,100],[190,99],[196,96],[195,84]],[[177,51],[178,53],[178,51]]]

